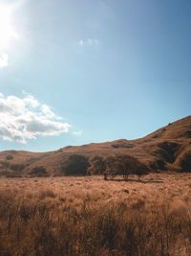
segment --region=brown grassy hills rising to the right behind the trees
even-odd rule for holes
[[[35,175],[40,168],[44,168],[47,175],[62,175],[62,166],[74,154],[83,155],[87,159],[96,155],[106,157],[128,154],[136,157],[151,172],[191,172],[191,116],[170,123],[137,140],[119,139],[41,153],[1,151],[0,175]]]

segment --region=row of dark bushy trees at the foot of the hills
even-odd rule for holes
[[[147,174],[147,167],[137,158],[127,155],[112,155],[102,157],[95,155],[88,158],[84,155],[73,154],[62,164],[63,175],[104,175],[105,179],[122,175],[128,179],[129,175]]]

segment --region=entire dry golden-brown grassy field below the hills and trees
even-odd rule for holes
[[[0,255],[191,255],[191,175],[1,178]]]

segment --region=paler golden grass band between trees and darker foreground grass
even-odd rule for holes
[[[91,203],[126,202],[144,199],[147,206],[165,201],[189,201],[191,198],[190,174],[150,174],[131,176],[129,181],[103,180],[102,176],[66,176],[45,178],[1,178],[0,193],[14,193],[15,198],[53,198],[53,201],[73,201],[81,204],[84,198]]]

